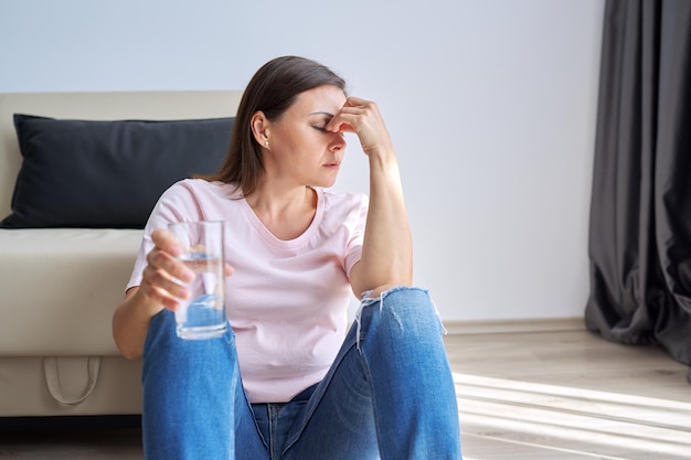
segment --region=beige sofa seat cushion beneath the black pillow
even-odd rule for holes
[[[119,355],[113,311],[125,298],[141,235],[0,228],[0,356]]]

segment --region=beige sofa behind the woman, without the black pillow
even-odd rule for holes
[[[13,114],[82,120],[232,117],[240,96],[0,94],[0,220],[11,213],[22,165]],[[137,228],[0,228],[0,417],[140,414],[141,361],[124,359],[110,331],[140,238]]]

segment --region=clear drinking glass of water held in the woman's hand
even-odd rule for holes
[[[168,229],[180,242],[178,259],[194,272],[192,282],[185,285],[191,296],[176,310],[178,336],[199,340],[223,335],[227,330],[223,222],[177,222]]]

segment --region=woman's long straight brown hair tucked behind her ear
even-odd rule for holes
[[[252,133],[252,117],[258,110],[278,119],[300,93],[331,85],[346,92],[346,82],[325,65],[299,56],[276,57],[264,64],[245,88],[237,108],[231,146],[221,169],[204,179],[234,183],[249,196],[264,175],[262,148]]]

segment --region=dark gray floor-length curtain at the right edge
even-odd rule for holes
[[[588,249],[588,330],[691,364],[689,0],[606,2]]]

